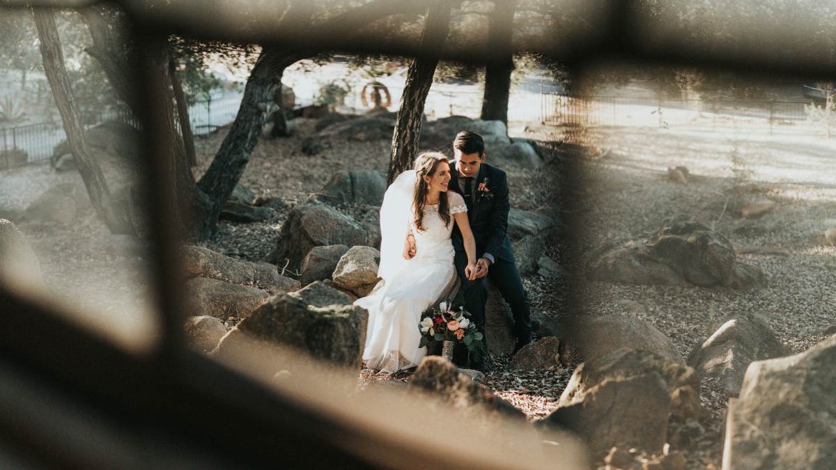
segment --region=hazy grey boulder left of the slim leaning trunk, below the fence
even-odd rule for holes
[[[93,204],[84,184],[66,182],[50,186],[26,207],[24,216],[30,221],[69,225],[92,210]]]

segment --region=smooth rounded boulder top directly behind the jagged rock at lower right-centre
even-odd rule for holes
[[[644,350],[655,353],[676,364],[685,360],[673,341],[655,326],[633,316],[610,314],[581,319],[573,335],[568,335],[578,345],[584,361],[604,358],[616,350]]]

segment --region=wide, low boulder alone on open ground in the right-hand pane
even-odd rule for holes
[[[648,239],[605,243],[590,255],[589,278],[619,284],[694,284],[749,289],[762,271],[737,261],[725,237],[696,222],[675,222]]]

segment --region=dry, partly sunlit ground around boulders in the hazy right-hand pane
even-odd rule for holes
[[[768,285],[741,292],[581,283],[580,312],[646,319],[686,358],[713,333],[711,324],[736,312],[762,314],[788,352],[823,340],[823,330],[836,322],[836,247],[817,243],[818,235],[836,227],[833,144],[654,128],[589,130],[585,137],[595,148],[574,160],[577,197],[570,217],[580,265],[604,240],[647,235],[684,217],[715,227],[739,251],[756,252],[738,256],[762,268]],[[687,166],[690,181],[670,181],[669,166]],[[774,212],[755,220],[739,216],[743,203],[763,198],[777,202]],[[684,450],[689,467],[719,467],[726,400],[709,380],[701,395],[711,417]]]

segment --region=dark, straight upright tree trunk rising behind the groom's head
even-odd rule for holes
[[[494,0],[493,13],[488,20],[488,48],[495,51],[485,65],[485,95],[482,98],[482,119],[501,120],[508,124],[508,94],[511,91],[511,72],[514,69],[511,37],[517,0]]]

